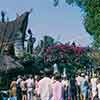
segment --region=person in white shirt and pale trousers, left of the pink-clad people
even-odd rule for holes
[[[29,75],[29,78],[26,80],[27,83],[27,98],[28,100],[33,100],[33,87],[34,87],[34,82],[32,79],[32,75]]]

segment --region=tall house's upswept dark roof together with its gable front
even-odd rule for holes
[[[13,21],[0,22],[0,49],[7,48],[9,44],[14,45],[16,40],[20,40],[24,48],[28,17],[31,11],[24,12]]]

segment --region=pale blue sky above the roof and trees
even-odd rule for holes
[[[28,27],[32,29],[37,42],[44,35],[50,35],[62,42],[75,41],[81,46],[89,45],[91,37],[82,24],[81,10],[63,1],[55,8],[53,0],[0,0],[0,10],[4,10],[9,19],[13,20],[16,13],[21,14],[33,8]]]

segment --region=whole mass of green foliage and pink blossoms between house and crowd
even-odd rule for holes
[[[75,43],[72,45],[57,44],[49,36],[45,36],[33,52],[33,55],[24,53],[21,58],[25,73],[40,73],[44,68],[53,71],[53,65],[56,63],[61,73],[66,68],[67,74],[71,75],[75,74],[78,70],[84,70],[84,66],[92,64],[90,63],[91,57],[86,54],[86,48],[77,47]]]

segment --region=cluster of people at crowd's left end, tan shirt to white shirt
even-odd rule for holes
[[[11,100],[33,100],[34,79],[32,75],[13,78],[10,84]]]

